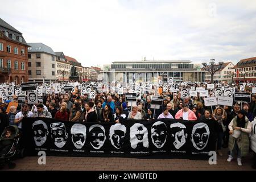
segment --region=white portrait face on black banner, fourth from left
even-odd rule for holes
[[[92,140],[90,141],[92,147],[95,149],[100,149],[104,145],[106,140],[104,127],[98,124],[92,125],[89,128],[89,134],[92,138]]]

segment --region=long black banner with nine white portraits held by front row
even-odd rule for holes
[[[214,151],[214,122],[175,119],[123,123],[77,123],[23,118],[28,155],[209,159]]]

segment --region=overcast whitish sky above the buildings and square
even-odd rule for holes
[[[83,66],[256,56],[256,1],[0,0],[1,18]]]

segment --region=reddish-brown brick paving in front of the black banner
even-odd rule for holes
[[[227,150],[224,150],[226,153]],[[170,171],[170,170],[255,170],[251,168],[252,155],[243,159],[242,166],[237,165],[237,160],[227,162],[228,155],[217,156],[217,165],[209,165],[205,160],[188,159],[134,159],[134,158],[74,158],[47,156],[46,165],[38,164],[37,156],[27,156],[23,159],[16,159],[16,167],[9,169],[6,165],[3,170],[89,170],[89,171]]]

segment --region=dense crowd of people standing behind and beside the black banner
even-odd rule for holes
[[[250,92],[250,90],[248,91]],[[127,119],[156,121],[159,118],[183,119],[187,121],[214,122],[216,151],[222,156],[222,148],[229,148],[228,162],[237,154],[237,164],[242,165],[242,157],[254,152],[253,168],[256,168],[256,95],[250,103],[230,106],[205,106],[204,99],[197,97],[181,98],[181,93],[163,92],[163,104],[159,109],[151,108],[153,93],[144,93],[136,105],[129,105],[125,94],[98,93],[94,99],[88,94],[75,93],[45,94],[38,104],[18,104],[6,100],[0,105],[0,131],[8,125],[17,125],[22,131],[24,117],[47,117],[70,122],[114,122],[122,123]],[[2,103],[2,98],[0,98]],[[254,128],[253,128],[254,127]]]

